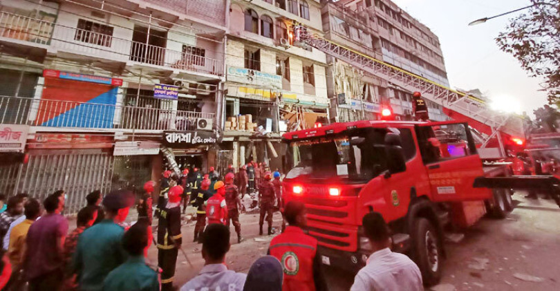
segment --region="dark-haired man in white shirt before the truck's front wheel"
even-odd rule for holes
[[[362,219],[364,233],[373,248],[366,266],[357,273],[351,291],[424,290],[422,274],[408,256],[391,252],[391,236],[383,216],[371,212]]]

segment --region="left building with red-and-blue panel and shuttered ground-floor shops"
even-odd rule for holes
[[[0,166],[0,192],[65,189],[71,213],[214,165],[229,3],[1,0],[1,158],[26,162]]]

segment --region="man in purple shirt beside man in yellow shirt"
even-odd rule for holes
[[[64,192],[49,195],[44,202],[46,214],[29,228],[26,238],[24,274],[29,290],[59,290],[64,277],[64,239],[68,220],[64,210]]]

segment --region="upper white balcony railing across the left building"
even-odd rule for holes
[[[183,71],[223,75],[221,59],[183,53],[5,11],[0,11],[0,37],[118,62],[138,62]]]

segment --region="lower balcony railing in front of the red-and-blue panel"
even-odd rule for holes
[[[198,118],[214,113],[0,96],[0,124],[185,131],[196,130]]]

